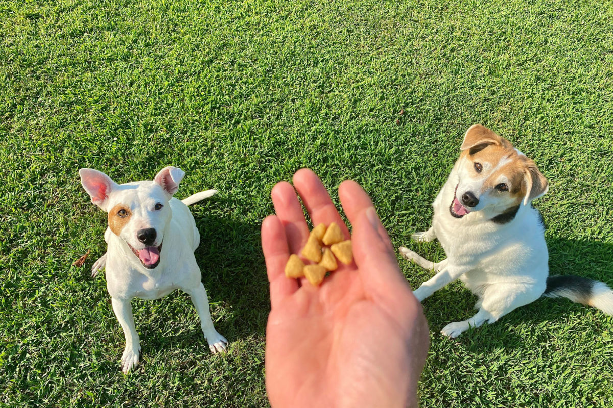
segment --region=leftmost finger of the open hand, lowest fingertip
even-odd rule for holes
[[[274,308],[298,290],[298,281],[285,276],[289,247],[283,223],[275,215],[268,215],[262,223],[262,250],[270,283],[270,306]]]

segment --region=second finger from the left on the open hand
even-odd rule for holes
[[[285,228],[289,251],[297,254],[307,243],[308,226],[296,191],[288,182],[280,182],[272,188],[270,195],[276,215]]]

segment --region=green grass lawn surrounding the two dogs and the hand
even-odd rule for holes
[[[0,405],[267,406],[272,186],[303,166],[334,195],[355,179],[394,245],[441,259],[408,237],[474,123],[549,178],[535,206],[552,272],[613,284],[613,2],[439,3],[0,0]],[[230,352],[208,353],[185,294],[137,301],[142,365],[124,376],[104,276],[89,277],[106,217],[77,171],[128,182],[166,165],[187,173],[180,198],[220,191],[192,212]],[[460,284],[424,302],[424,407],[612,406],[613,318],[543,299],[442,338],[473,303]]]

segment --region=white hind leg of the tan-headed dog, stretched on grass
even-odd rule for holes
[[[491,284],[477,302],[479,311],[470,319],[447,324],[441,330],[444,336],[456,338],[471,327],[480,327],[485,322],[493,323],[520,306],[534,302],[542,291],[536,286],[521,283]]]

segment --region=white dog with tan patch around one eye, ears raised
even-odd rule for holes
[[[191,296],[211,352],[226,351],[227,340],[213,327],[207,292],[200,282],[194,257],[200,234],[187,207],[217,191],[202,191],[183,201],[173,198],[185,176],[176,167],[162,169],[153,181],[121,185],[94,169],[80,169],[79,174],[91,202],[109,213],[104,234],[109,247],[94,263],[92,275],[106,267],[113,311],[126,335],[122,371],[128,373],[139,363],[131,299],[159,299],[175,289]]]

